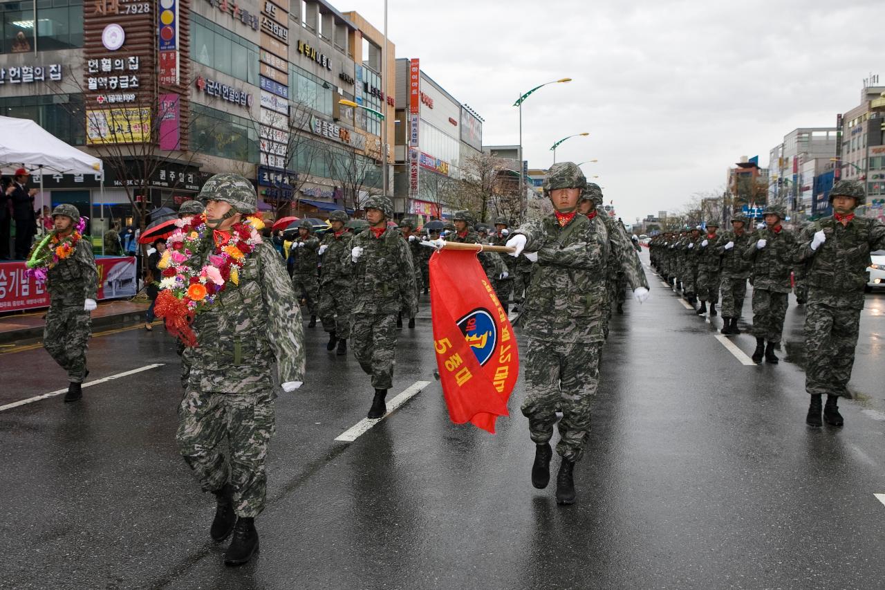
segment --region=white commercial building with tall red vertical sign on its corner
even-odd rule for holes
[[[397,213],[440,219],[454,213],[452,191],[481,155],[482,120],[421,69],[396,59]]]

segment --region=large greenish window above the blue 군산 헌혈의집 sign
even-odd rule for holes
[[[258,45],[199,14],[191,15],[190,31],[191,59],[258,86]]]

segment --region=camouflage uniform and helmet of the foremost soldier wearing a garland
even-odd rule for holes
[[[215,175],[201,199],[224,200],[252,213],[257,198],[240,175]],[[189,261],[201,268],[212,252],[212,232]],[[176,439],[204,491],[233,488],[237,516],[265,507],[267,446],[274,434],[272,366],[281,383],[304,381],[304,332],[295,292],[273,245],[249,254],[239,283],[228,283],[212,307],[196,316],[197,345],[179,408]]]

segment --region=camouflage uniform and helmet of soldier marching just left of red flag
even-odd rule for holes
[[[366,208],[380,209],[393,216],[388,197],[371,197]],[[353,268],[353,326],[350,338],[359,366],[372,376],[376,390],[393,385],[396,361],[396,314],[417,314],[415,271],[412,252],[396,228],[385,229],[375,237],[371,229],[350,239],[345,263],[353,248],[363,249]]]

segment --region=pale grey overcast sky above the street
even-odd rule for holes
[[[340,4],[337,4],[340,3]],[[379,29],[383,0],[337,0]],[[627,223],[724,188],[740,156],[798,127],[835,126],[864,78],[885,81],[885,2],[741,3],[389,0],[397,58],[485,119],[483,144],[517,144],[529,167],[580,162]]]

